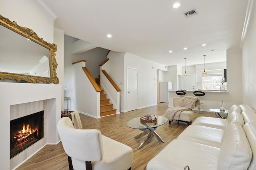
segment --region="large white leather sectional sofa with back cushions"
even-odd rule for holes
[[[147,170],[256,170],[256,111],[233,105],[227,119],[198,117]]]

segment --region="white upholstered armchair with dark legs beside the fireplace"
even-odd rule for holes
[[[132,148],[127,145],[97,129],[74,129],[68,117],[62,117],[57,127],[70,170],[132,169]]]

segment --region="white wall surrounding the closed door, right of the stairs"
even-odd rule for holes
[[[158,64],[130,53],[108,54],[108,74],[120,88],[120,111],[127,112],[127,67],[138,69],[138,109],[156,105],[157,102],[157,70],[166,71],[164,65]]]

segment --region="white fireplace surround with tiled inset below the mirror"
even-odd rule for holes
[[[45,145],[60,141],[57,123],[61,100],[61,85],[0,82],[1,169],[15,169]],[[44,110],[44,138],[10,159],[10,120],[41,110]]]

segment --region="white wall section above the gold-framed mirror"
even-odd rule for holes
[[[32,29],[44,41],[53,43],[54,21],[34,0],[1,0],[0,14],[22,27]]]

